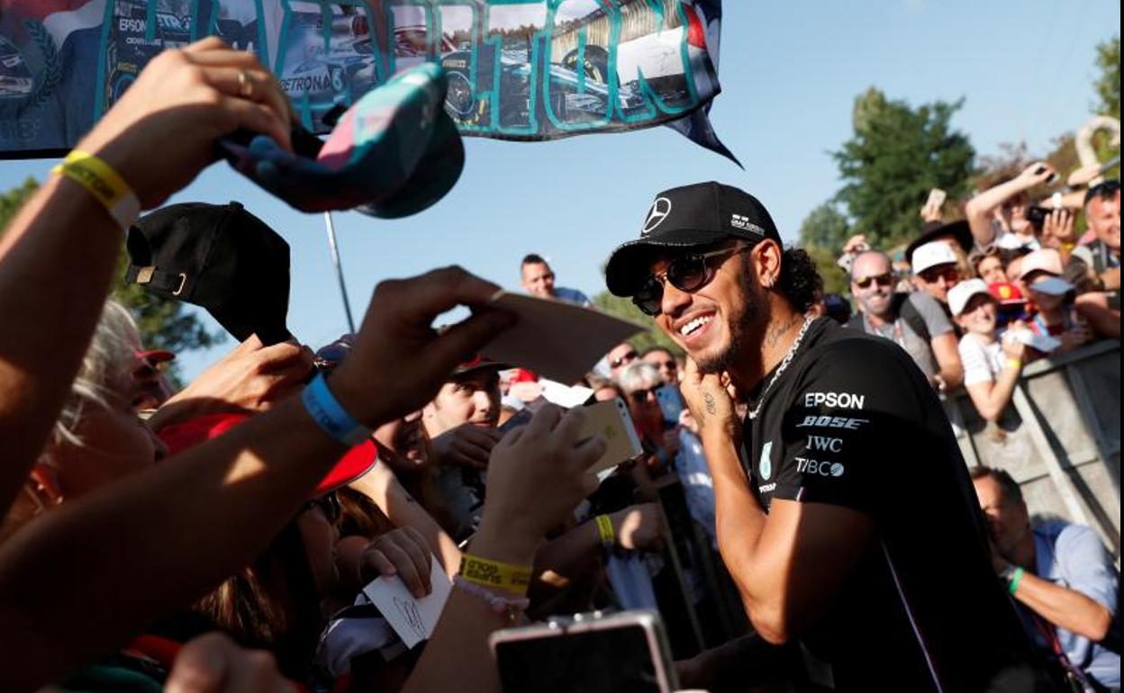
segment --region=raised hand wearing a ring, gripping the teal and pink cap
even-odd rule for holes
[[[224,135],[252,130],[290,148],[290,120],[289,99],[269,70],[208,37],[149,61],[78,148],[116,168],[149,209],[214,162]]]

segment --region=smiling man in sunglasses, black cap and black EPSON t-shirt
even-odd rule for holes
[[[660,193],[606,280],[689,356],[723,560],[758,633],[800,644],[798,690],[1036,690],[940,401],[888,340],[805,317],[815,266],[755,198]]]

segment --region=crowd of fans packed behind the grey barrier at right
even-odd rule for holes
[[[1026,364],[1120,339],[1120,181],[1090,177],[1096,168],[1035,202],[1028,193],[1057,173],[1031,164],[972,198],[966,220],[924,209],[898,262],[852,238],[840,265],[858,312],[842,320],[895,340],[942,394],[962,387],[982,419],[1000,421]]]

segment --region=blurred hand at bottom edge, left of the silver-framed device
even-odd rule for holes
[[[220,632],[191,640],[180,650],[164,684],[167,693],[296,693],[265,650],[243,649]]]

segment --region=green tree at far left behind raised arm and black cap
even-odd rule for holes
[[[28,177],[21,185],[0,194],[0,235],[36,189],[38,183]],[[185,310],[183,303],[157,299],[136,284],[126,284],[128,265],[129,258],[123,245],[111,297],[133,313],[146,347],[178,353],[206,348],[226,338],[225,332],[209,332],[193,313]]]

